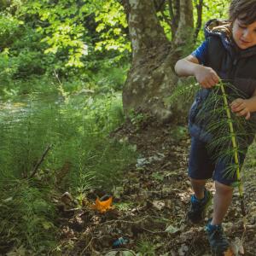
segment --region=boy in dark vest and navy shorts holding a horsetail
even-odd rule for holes
[[[207,236],[212,253],[222,255],[229,247],[221,223],[230,206],[236,177],[226,177],[227,166],[222,160],[214,162],[207,152],[207,136],[204,125],[196,122],[202,102],[220,79],[230,82],[245,93],[244,99],[230,103],[233,113],[245,119],[253,119],[256,112],[256,0],[233,0],[230,3],[228,21],[209,20],[205,27],[206,40],[198,49],[177,61],[175,71],[179,76],[195,76],[201,90],[195,97],[189,113],[191,149],[189,178],[195,195],[191,196],[188,218],[199,223],[212,200],[205,189],[207,178],[212,177],[216,193],[213,200],[213,216],[207,223]],[[206,111],[206,110],[204,110]],[[254,131],[253,131],[254,132]],[[250,138],[251,143],[253,136]],[[249,144],[248,143],[248,144]],[[242,158],[242,157],[241,157]]]

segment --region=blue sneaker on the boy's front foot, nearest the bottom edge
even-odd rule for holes
[[[228,249],[230,248],[229,241],[224,235],[224,230],[219,225],[211,224],[212,218],[208,220],[206,231],[208,236],[208,241],[210,243],[212,249],[212,255],[214,256],[222,256]]]

